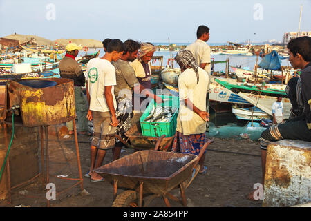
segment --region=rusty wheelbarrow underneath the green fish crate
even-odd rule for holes
[[[129,142],[123,140],[120,136],[115,135],[120,142],[122,142],[126,147],[133,148],[138,151],[154,149],[156,143],[160,137],[147,137],[142,135],[142,129],[140,128],[140,122],[137,122],[131,126],[129,131],[125,133],[126,137],[129,137]],[[172,137],[164,137],[160,140],[158,150],[159,151],[171,151],[171,144],[173,142]]]

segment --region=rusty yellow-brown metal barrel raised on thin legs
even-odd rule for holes
[[[75,117],[73,80],[65,78],[10,80],[6,84],[6,109],[19,106],[17,122],[23,126],[54,125]],[[10,113],[6,116],[9,121]]]

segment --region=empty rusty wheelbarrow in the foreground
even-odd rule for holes
[[[149,206],[152,200],[161,196],[166,206],[170,206],[169,198],[187,206],[185,189],[198,174],[198,162],[214,140],[207,141],[197,156],[157,151],[164,136],[158,140],[155,150],[136,151],[95,169],[113,184],[113,207]],[[118,188],[125,191],[117,195]],[[178,188],[181,200],[169,193]],[[143,198],[147,196],[151,197],[143,204]]]

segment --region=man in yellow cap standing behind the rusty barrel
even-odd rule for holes
[[[75,43],[70,43],[66,46],[66,55],[59,62],[59,73],[63,78],[73,79],[73,84],[75,86],[75,111],[78,120],[78,134],[88,133],[88,119],[86,119],[88,111],[88,103],[84,93],[82,92],[82,87],[85,86],[85,76],[80,68],[75,57],[79,54],[81,46],[77,46]],[[66,122],[68,128],[68,134],[73,134],[73,122]]]

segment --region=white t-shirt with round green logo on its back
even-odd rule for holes
[[[117,108],[114,95],[115,67],[106,59],[93,58],[88,61],[86,68],[86,80],[88,81],[88,93],[90,94],[91,111],[109,111],[104,96],[105,86],[112,86],[113,106]]]

